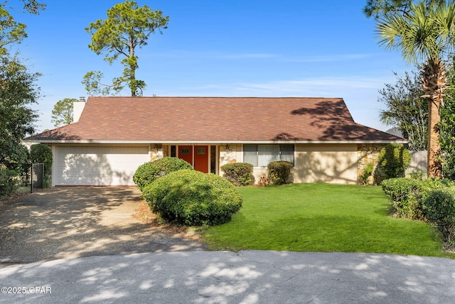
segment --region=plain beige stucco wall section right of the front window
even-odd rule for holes
[[[357,144],[302,144],[295,151],[294,183],[357,183]]]

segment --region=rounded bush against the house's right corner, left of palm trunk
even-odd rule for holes
[[[378,155],[375,179],[378,183],[389,178],[404,178],[412,156],[409,150],[397,143],[389,143]]]

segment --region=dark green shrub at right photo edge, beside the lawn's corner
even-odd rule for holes
[[[443,240],[455,241],[455,192],[453,188],[429,192],[424,200],[423,212],[426,219],[441,232]]]

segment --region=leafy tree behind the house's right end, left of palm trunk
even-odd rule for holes
[[[395,73],[397,75],[397,73]],[[389,126],[396,126],[402,136],[409,140],[410,150],[424,151],[428,146],[428,102],[417,72],[405,72],[397,77],[395,85],[386,84],[380,89],[379,102],[387,109],[380,112],[380,120]]]

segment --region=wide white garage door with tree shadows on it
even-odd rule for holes
[[[134,185],[148,147],[55,146],[53,185]]]

